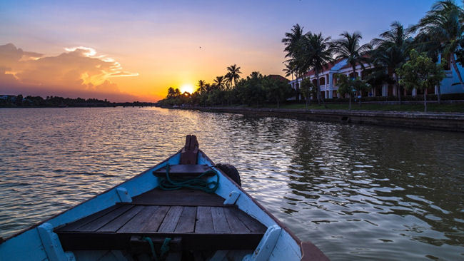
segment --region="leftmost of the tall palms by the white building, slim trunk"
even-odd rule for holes
[[[296,24],[293,26],[291,29],[290,33],[285,34],[285,38],[282,39],[282,43],[285,44],[285,48],[283,51],[286,51],[286,58],[290,58],[287,62],[288,63],[293,63],[293,67],[295,68],[295,73],[297,83],[298,83],[298,68],[297,68],[297,63],[296,63],[296,56],[298,56],[298,52],[301,51],[301,39],[304,38],[303,34],[303,27],[300,26],[299,24]],[[296,86],[296,101],[299,101],[299,86]]]

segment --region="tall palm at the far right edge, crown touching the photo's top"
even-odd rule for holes
[[[463,22],[463,9],[454,1],[444,0],[433,4],[430,11],[412,27],[414,31],[419,30],[418,35],[427,35],[430,41],[440,43],[443,55],[450,57],[450,65],[458,75],[461,86],[463,86],[463,78],[456,64],[455,53],[463,47],[460,46],[464,34]]]

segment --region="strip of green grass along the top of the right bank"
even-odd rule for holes
[[[277,108],[276,104],[268,104],[265,108]],[[305,104],[293,103],[284,104],[280,108],[289,109],[304,109]],[[342,104],[327,104],[326,107],[319,106],[317,103],[311,103],[308,106],[310,110],[348,110],[348,103]],[[402,104],[402,105],[390,105],[390,104],[378,104],[378,103],[363,103],[359,106],[359,103],[351,103],[352,111],[424,111],[424,106],[421,104]],[[428,112],[443,112],[443,113],[464,113],[464,103],[427,103]]]

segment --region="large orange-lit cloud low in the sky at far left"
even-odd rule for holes
[[[123,71],[114,58],[97,55],[94,48],[76,46],[64,50],[58,56],[44,56],[23,51],[14,44],[0,46],[0,92],[86,98],[111,96],[119,97],[119,101],[137,98],[122,93],[111,78],[138,76],[138,73]]]

